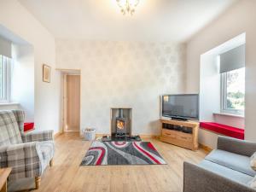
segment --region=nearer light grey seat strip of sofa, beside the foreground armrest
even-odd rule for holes
[[[244,174],[242,172],[237,172],[233,169],[230,169],[226,166],[218,165],[217,163],[214,163],[209,160],[202,160],[198,166],[201,166],[202,168],[207,169],[210,172],[214,172],[218,175],[227,177],[232,181],[235,181],[237,183],[241,183],[244,185],[247,185],[247,183],[249,183],[253,179],[253,177],[247,174]]]

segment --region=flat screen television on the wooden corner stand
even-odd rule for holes
[[[172,119],[199,119],[199,95],[164,95],[162,101],[162,116]]]

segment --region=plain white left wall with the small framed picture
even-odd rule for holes
[[[55,38],[18,1],[2,0],[0,24],[34,48],[34,121],[36,130],[60,129],[60,74],[55,72]],[[42,66],[52,67],[51,83],[42,81]]]

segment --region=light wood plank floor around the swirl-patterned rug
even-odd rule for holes
[[[42,177],[44,192],[179,192],[183,190],[183,161],[200,162],[206,152],[193,152],[156,139],[150,141],[168,165],[79,166],[90,142],[78,133],[65,133],[55,139],[54,166]],[[36,190],[35,190],[36,191]]]

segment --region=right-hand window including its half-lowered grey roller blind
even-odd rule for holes
[[[220,55],[221,110],[244,115],[245,44]]]

